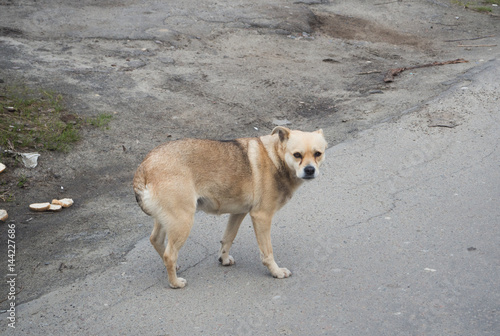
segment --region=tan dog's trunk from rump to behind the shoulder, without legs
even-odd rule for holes
[[[252,195],[249,141],[184,139],[155,148],[134,176],[134,192],[141,209],[153,215],[161,199],[178,197],[180,189],[193,192],[196,207],[209,213],[248,211]],[[236,206],[237,205],[237,206]]]

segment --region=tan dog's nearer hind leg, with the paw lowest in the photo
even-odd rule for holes
[[[172,219],[167,226],[168,243],[163,253],[163,263],[167,268],[168,282],[172,288],[182,288],[186,285],[186,280],[177,277],[177,258],[179,250],[186,242],[194,221],[194,211],[176,211],[175,219]]]

